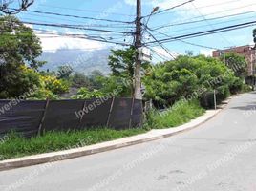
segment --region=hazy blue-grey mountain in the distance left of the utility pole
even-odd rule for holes
[[[47,61],[47,64],[41,69],[55,71],[59,66],[69,65],[75,72],[90,74],[94,70],[99,70],[103,74],[109,74],[109,54],[109,49],[87,52],[81,50],[60,49],[56,52],[44,52],[42,53],[40,60]]]

